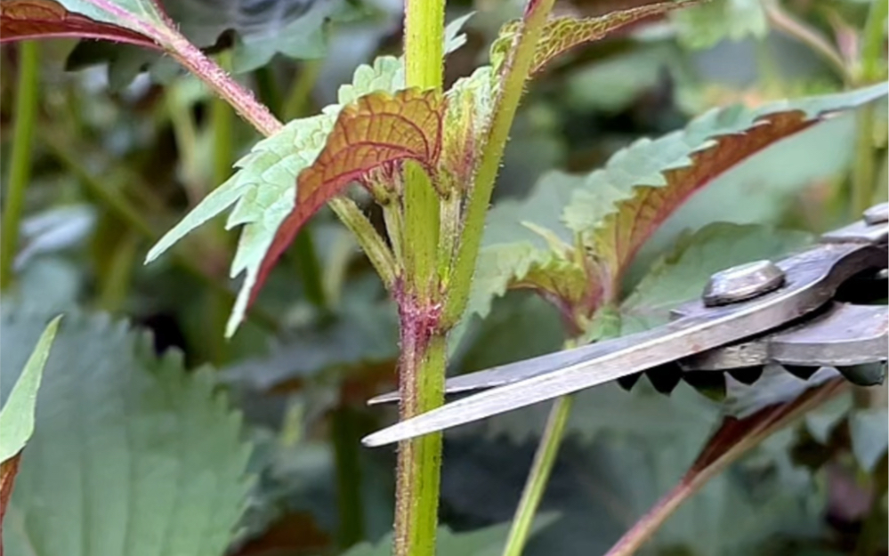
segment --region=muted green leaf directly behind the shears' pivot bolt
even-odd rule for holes
[[[778,259],[811,241],[809,234],[800,231],[725,222],[685,234],[621,304],[622,333],[667,322],[676,305],[699,297],[714,272],[744,262]]]

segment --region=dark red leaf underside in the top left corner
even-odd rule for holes
[[[53,0],[4,0],[0,4],[0,42],[63,36],[160,48],[150,36],[69,12]]]

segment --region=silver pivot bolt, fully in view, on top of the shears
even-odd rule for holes
[[[784,285],[784,270],[772,261],[756,261],[720,270],[710,277],[704,289],[707,307],[742,302]]]

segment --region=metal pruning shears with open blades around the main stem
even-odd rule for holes
[[[882,383],[889,359],[887,307],[849,301],[865,290],[877,292],[868,301],[885,298],[887,236],[889,204],[872,206],[860,221],[824,234],[802,253],[715,273],[700,299],[679,306],[664,326],[450,378],[446,394],[481,393],[363,442],[383,446],[664,366],[683,372],[768,363],[836,367],[853,383]],[[393,392],[368,404],[398,399]]]

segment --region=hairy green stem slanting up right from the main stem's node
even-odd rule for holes
[[[472,285],[475,260],[481,246],[481,232],[484,229],[485,214],[488,212],[497,171],[503,158],[509,130],[513,125],[513,117],[519,108],[521,93],[528,79],[534,51],[543,31],[546,18],[553,9],[555,0],[529,0],[525,12],[524,25],[517,37],[511,56],[505,62],[505,76],[500,82],[494,117],[484,148],[481,151],[481,162],[475,175],[475,183],[470,193],[466,208],[465,226],[457,253],[457,264],[453,273],[453,282],[449,292],[449,301],[445,306],[442,326],[453,325],[463,315],[469,290]]]

